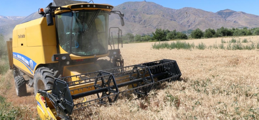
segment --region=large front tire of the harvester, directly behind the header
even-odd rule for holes
[[[59,77],[59,72],[46,67],[40,67],[35,71],[33,79],[33,88],[36,95],[37,91],[51,89],[54,79]]]

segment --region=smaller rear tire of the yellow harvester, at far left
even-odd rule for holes
[[[22,97],[27,94],[26,82],[23,76],[15,76],[14,84],[17,96]]]

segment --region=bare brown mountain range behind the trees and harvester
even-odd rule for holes
[[[112,14],[109,18],[109,27],[120,27],[123,34],[150,34],[157,28],[185,31],[186,28],[205,30],[218,29],[222,26],[227,28],[259,26],[259,16],[229,9],[216,13],[192,7],[177,10],[154,2],[141,1],[125,2],[115,6],[113,10],[124,13],[125,26],[120,26],[118,15]],[[12,37],[12,29],[24,18],[23,16],[0,16],[0,33],[5,35],[6,40]]]

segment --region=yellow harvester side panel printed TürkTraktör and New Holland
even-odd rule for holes
[[[13,29],[13,64],[33,76],[37,65],[54,63],[56,44],[55,26],[47,26],[46,17],[19,24]]]

